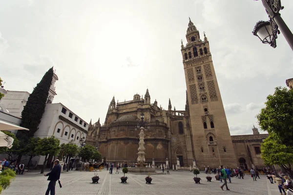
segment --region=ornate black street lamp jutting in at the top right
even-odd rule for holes
[[[275,48],[277,46],[277,34],[280,34],[278,28],[280,28],[285,39],[293,50],[293,34],[279,13],[279,11],[284,8],[281,6],[281,0],[262,0],[262,3],[270,20],[257,22],[252,34],[258,37],[262,43],[269,43]]]

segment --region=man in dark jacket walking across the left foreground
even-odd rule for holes
[[[54,167],[50,173],[45,174],[44,176],[49,176],[47,180],[49,180],[48,184],[48,189],[46,191],[45,195],[55,195],[55,186],[56,186],[56,181],[60,179],[60,174],[61,174],[61,165],[59,164],[59,160],[56,159],[54,161]]]

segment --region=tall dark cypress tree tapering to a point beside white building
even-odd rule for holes
[[[28,135],[26,136],[33,137],[39,129],[38,126],[41,122],[42,115],[45,112],[46,101],[49,95],[53,74],[54,72],[52,67],[44,74],[42,80],[34,88],[21,112],[21,127],[29,129]],[[23,135],[24,131],[18,132],[20,132],[20,137],[26,137]]]

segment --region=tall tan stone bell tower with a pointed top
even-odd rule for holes
[[[181,44],[193,150],[196,164],[237,166],[225,110],[209,50],[209,41],[189,18],[187,44]]]

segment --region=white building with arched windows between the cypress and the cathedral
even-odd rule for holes
[[[62,103],[47,103],[39,129],[34,136],[41,138],[54,136],[60,140],[60,144],[71,141],[79,145],[80,138],[87,135],[87,128],[88,123]],[[49,157],[47,165],[52,158],[53,156]],[[37,156],[33,160],[37,161],[37,165],[42,165],[44,156]]]

